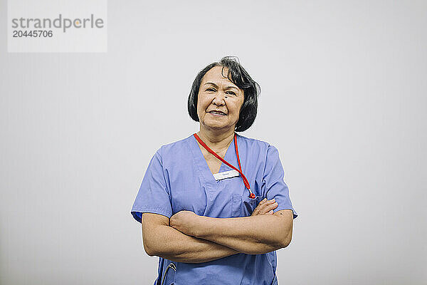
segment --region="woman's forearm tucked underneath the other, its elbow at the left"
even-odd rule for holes
[[[178,262],[201,263],[238,253],[206,239],[189,237],[167,225],[143,229],[143,239],[147,254]]]

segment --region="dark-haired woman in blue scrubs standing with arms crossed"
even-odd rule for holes
[[[259,90],[232,57],[206,66],[188,100],[199,132],[149,162],[131,213],[159,257],[155,285],[278,284],[275,251],[297,213],[278,150],[236,133],[253,124]]]

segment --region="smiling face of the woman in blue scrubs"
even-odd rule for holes
[[[197,115],[204,128],[227,131],[230,128],[234,130],[236,126],[244,94],[243,90],[222,76],[222,68],[214,66],[202,78],[197,98]],[[225,76],[227,72],[228,68],[224,68]]]

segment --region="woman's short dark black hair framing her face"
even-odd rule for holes
[[[241,66],[238,58],[235,56],[225,56],[221,58],[221,61],[214,62],[203,68],[196,79],[194,79],[193,86],[189,94],[188,110],[190,117],[199,122],[199,116],[197,115],[197,96],[199,95],[199,88],[201,80],[204,75],[211,70],[214,66],[222,66],[228,68],[227,78],[241,88],[244,92],[243,105],[240,110],[239,118],[236,123],[236,132],[243,132],[248,130],[255,120],[257,108],[258,108],[258,95],[260,94],[260,86],[258,83],[253,81],[251,76],[246,72],[245,68]]]

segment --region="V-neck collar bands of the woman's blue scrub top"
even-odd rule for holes
[[[236,137],[238,137],[237,134],[236,134]],[[237,165],[238,162],[236,157],[236,147],[234,146],[235,139],[236,138],[233,138],[233,141],[231,141],[230,145],[228,145],[228,148],[226,150],[226,155],[224,155],[223,159],[226,160],[231,165],[233,165],[234,167],[238,168],[238,165]],[[194,161],[196,162],[196,165],[198,166],[199,171],[201,172],[201,176],[204,177],[205,182],[216,185],[218,181],[215,179],[214,175],[209,169],[208,162],[206,162],[203,152],[201,151],[201,147],[199,147],[199,142],[197,142],[196,138],[194,138],[194,135],[191,135],[191,137],[189,138],[189,145],[194,157]],[[221,161],[219,172],[224,172],[226,170],[232,170],[232,168],[228,167],[228,165],[226,165]]]

